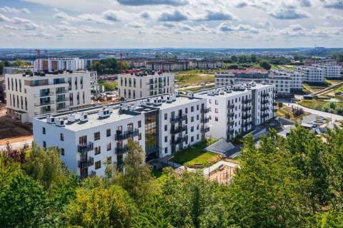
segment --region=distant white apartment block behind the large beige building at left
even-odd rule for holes
[[[97,59],[82,58],[39,58],[34,61],[35,71],[87,70]]]

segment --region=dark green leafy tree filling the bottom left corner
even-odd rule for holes
[[[15,175],[1,185],[0,227],[39,227],[46,214],[46,194],[31,177]]]

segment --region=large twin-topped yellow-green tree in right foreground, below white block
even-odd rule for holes
[[[244,142],[228,199],[229,216],[239,227],[302,227],[306,222],[299,171],[289,166],[284,140],[271,134],[259,148],[251,135]]]

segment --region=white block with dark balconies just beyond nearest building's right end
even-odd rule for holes
[[[229,141],[274,117],[274,85],[242,83],[202,91],[207,100],[207,136]]]

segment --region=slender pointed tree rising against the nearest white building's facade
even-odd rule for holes
[[[124,175],[120,177],[121,185],[137,202],[142,202],[151,192],[151,167],[146,164],[146,154],[139,142],[128,140],[124,160]]]

